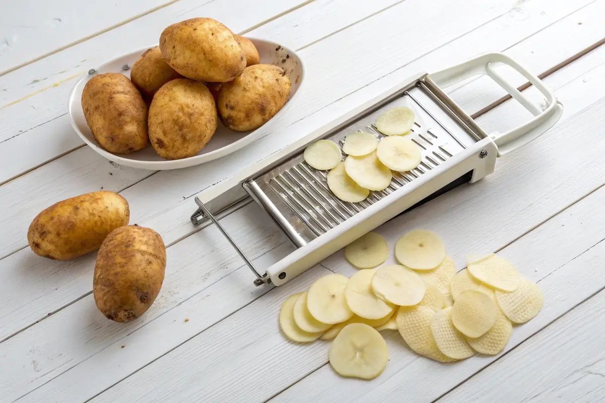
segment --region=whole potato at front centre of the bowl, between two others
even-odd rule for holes
[[[189,79],[169,81],[149,107],[149,140],[166,160],[194,156],[217,129],[217,107],[208,87]]]

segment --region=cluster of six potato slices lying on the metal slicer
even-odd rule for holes
[[[370,191],[387,189],[393,173],[406,172],[420,164],[419,147],[405,135],[411,134],[414,111],[407,106],[381,114],[374,127],[387,137],[379,140],[366,132],[348,134],[342,144],[347,157],[330,140],[319,140],[304,151],[304,160],[318,170],[329,170],[327,184],[334,195],[345,202],[364,201]]]

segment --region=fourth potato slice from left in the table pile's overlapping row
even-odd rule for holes
[[[392,303],[382,300],[372,291],[374,273],[378,272],[370,269],[356,272],[348,279],[345,289],[348,307],[356,315],[366,319],[384,318],[395,310]]]

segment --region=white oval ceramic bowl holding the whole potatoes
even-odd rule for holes
[[[207,163],[208,161],[216,160],[221,156],[225,156],[229,153],[239,150],[241,147],[246,146],[246,144],[250,144],[252,141],[258,140],[259,138],[269,134],[272,122],[286,112],[286,110],[292,104],[292,100],[298,92],[302,81],[304,80],[304,67],[302,65],[302,60],[298,57],[295,51],[269,40],[255,38],[248,39],[252,40],[253,44],[257,47],[258,53],[260,54],[261,63],[283,67],[286,69],[286,74],[290,78],[290,82],[292,82],[292,89],[290,90],[290,95],[286,105],[284,105],[284,107],[281,108],[281,111],[278,112],[271,120],[254,131],[232,131],[231,129],[224,127],[219,120],[217,131],[206,147],[198,152],[197,155],[189,158],[183,158],[182,160],[164,160],[162,157],[157,155],[157,153],[155,153],[151,145],[148,145],[142,150],[129,154],[116,154],[102,149],[96,140],[94,140],[93,134],[88,128],[84,118],[84,113],[82,111],[80,99],[82,98],[84,85],[88,80],[91,79],[91,77],[101,73],[122,73],[126,77],[130,78],[130,70],[128,69],[125,71],[122,69],[122,66],[132,66],[132,64],[139,59],[141,54],[143,54],[143,52],[148,50],[150,47],[145,47],[132,53],[117,57],[116,59],[99,66],[95,73],[82,77],[82,79],[76,83],[70,93],[68,109],[70,112],[71,125],[74,127],[74,130],[80,136],[80,138],[82,138],[82,140],[92,147],[97,153],[110,161],[134,168],[162,170],[191,167],[194,165]]]

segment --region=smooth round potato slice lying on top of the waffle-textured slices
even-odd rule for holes
[[[467,337],[480,337],[494,326],[498,318],[495,302],[481,291],[468,289],[458,295],[451,311],[456,329]]]

